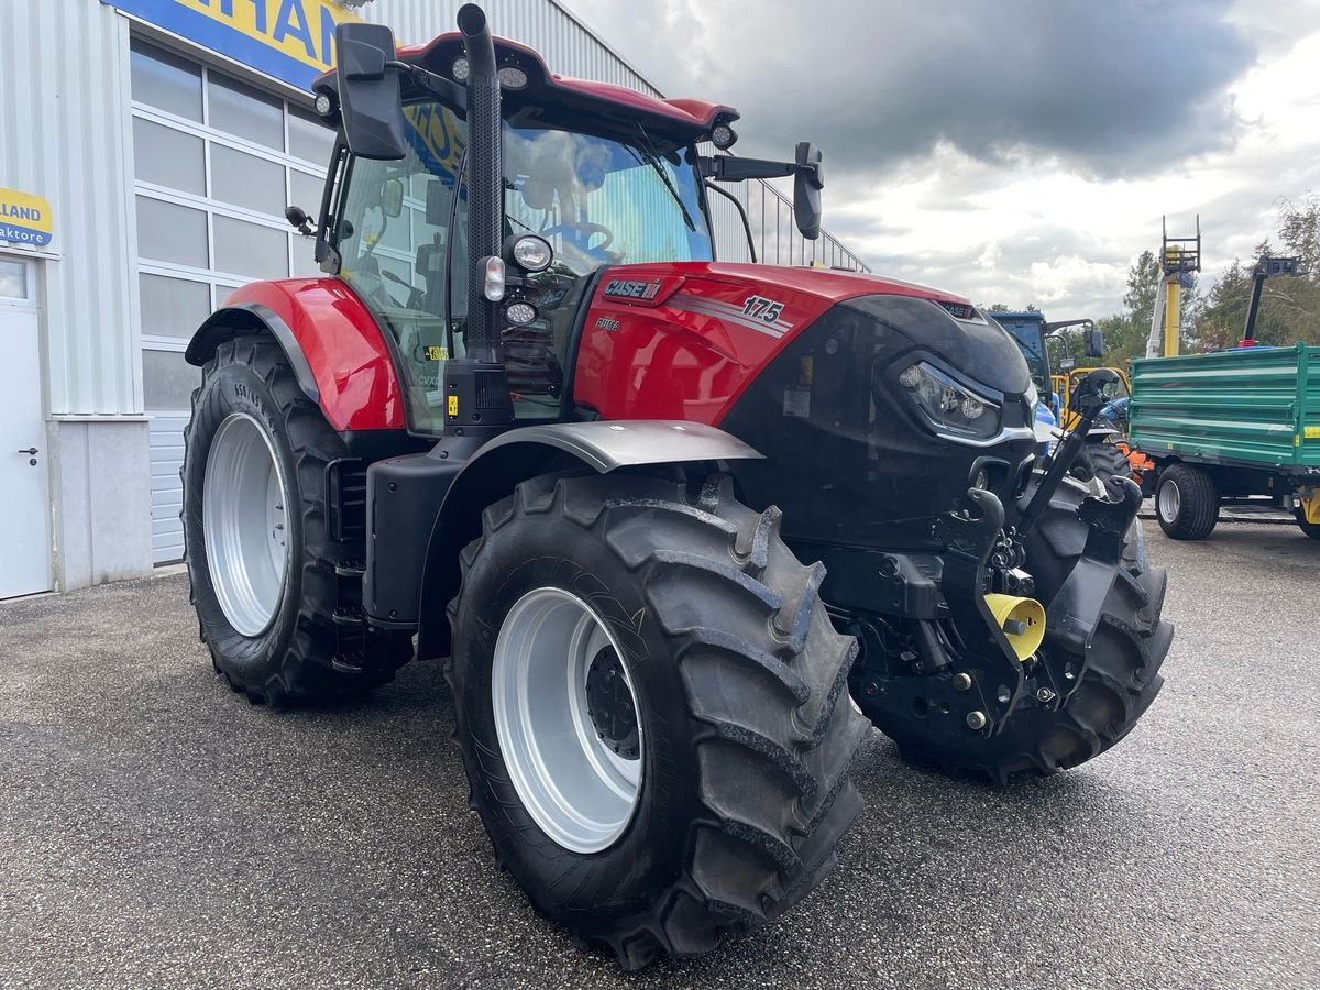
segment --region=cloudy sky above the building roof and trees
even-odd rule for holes
[[[1201,215],[1209,280],[1320,193],[1320,0],[565,0],[664,92],[816,141],[878,273],[1052,317],[1121,308]]]

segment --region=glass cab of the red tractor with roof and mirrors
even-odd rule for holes
[[[796,174],[804,234],[818,232],[821,168],[810,145],[797,162],[704,156],[698,141],[737,140],[737,111],[566,79],[531,49],[494,40],[500,199],[478,223],[498,224],[498,240],[474,251],[473,70],[462,34],[403,49],[384,66],[376,55],[393,51],[388,29],[346,25],[339,45],[371,66],[315,86],[318,110],[343,135],[317,257],[389,331],[413,433],[444,432],[446,364],[478,351],[504,366],[511,424],[566,418],[570,342],[598,273],[713,261],[710,178]],[[494,331],[470,312],[474,255],[499,269],[480,273],[477,296],[482,309],[494,304],[483,321]]]

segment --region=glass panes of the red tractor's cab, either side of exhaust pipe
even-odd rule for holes
[[[504,121],[504,234],[539,234],[554,260],[529,276],[539,318],[503,343],[515,413],[545,420],[561,414],[587,276],[607,264],[708,261],[713,247],[692,148],[640,127],[602,137],[531,115]],[[409,104],[404,119],[405,158],[350,161],[334,238],[339,275],[399,346],[412,429],[434,433],[442,363],[466,351],[467,124],[438,103]]]

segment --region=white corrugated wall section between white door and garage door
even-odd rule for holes
[[[54,220],[49,248],[29,255],[38,259],[51,583],[140,576],[150,569],[150,517],[128,24],[96,0],[0,0],[0,186],[48,199]]]

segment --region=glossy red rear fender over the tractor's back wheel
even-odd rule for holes
[[[321,409],[338,430],[404,429],[404,396],[387,333],[342,279],[251,282],[226,305],[255,302],[282,319],[312,368]]]

